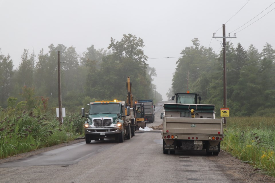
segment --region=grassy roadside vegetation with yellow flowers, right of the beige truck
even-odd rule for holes
[[[275,176],[275,118],[227,118],[222,149],[264,174]]]

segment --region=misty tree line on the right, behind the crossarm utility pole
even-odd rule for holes
[[[176,62],[172,88],[176,92],[198,93],[203,104],[215,104],[217,116],[223,108],[223,51],[215,53],[199,39],[182,50]],[[275,50],[268,43],[261,52],[251,44],[226,43],[227,107],[230,116],[275,116]]]

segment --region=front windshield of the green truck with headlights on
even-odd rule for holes
[[[117,114],[119,104],[91,104],[90,114]]]

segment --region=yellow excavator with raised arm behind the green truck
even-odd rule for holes
[[[131,116],[131,124],[135,129],[131,129],[131,130],[132,132],[135,132],[136,127],[144,128],[146,126],[146,122],[144,121],[144,105],[142,103],[134,104],[133,102],[132,83],[130,82],[130,76],[127,77],[126,89],[127,89],[126,105],[129,106],[130,108],[133,108],[133,111],[134,111],[133,116]]]

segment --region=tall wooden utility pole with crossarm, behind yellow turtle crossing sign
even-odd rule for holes
[[[223,38],[223,107],[226,108],[226,38],[236,38],[236,33],[234,37],[230,37],[230,33],[228,37],[225,36],[225,24],[223,24],[223,36],[222,37],[216,37],[216,33],[213,34],[213,38]],[[226,118],[223,117],[224,124],[226,125]]]

